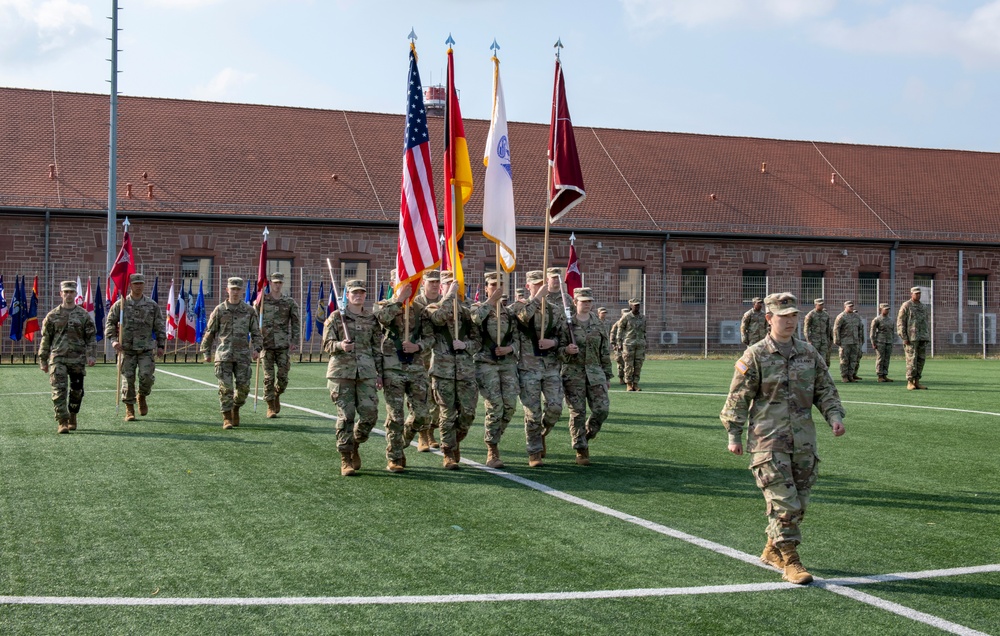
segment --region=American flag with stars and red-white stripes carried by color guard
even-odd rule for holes
[[[441,262],[427,112],[420,92],[420,72],[413,45],[410,46],[408,82],[403,186],[399,202],[399,249],[396,252],[399,283],[396,289],[410,285],[410,298],[413,298],[424,272],[436,268]]]

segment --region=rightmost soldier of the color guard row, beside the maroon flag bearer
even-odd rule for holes
[[[604,326],[590,313],[593,302],[589,287],[576,288],[573,292],[576,313],[566,331],[572,335],[563,337],[559,347],[560,375],[569,405],[569,434],[576,450],[576,463],[581,466],[590,465],[589,442],[601,431],[611,408],[608,399],[611,344]]]

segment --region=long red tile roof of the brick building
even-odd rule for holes
[[[0,207],[106,208],[107,96],[0,88],[0,113]],[[442,120],[429,124],[440,184]],[[487,127],[465,122],[470,224]],[[539,227],[548,126],[509,128],[518,222]],[[402,134],[402,114],[122,97],[117,207],[393,224]],[[560,228],[1000,242],[1000,154],[586,127],[576,139],[588,196]]]

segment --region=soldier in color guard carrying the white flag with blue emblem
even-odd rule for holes
[[[471,311],[472,322],[479,329],[482,339],[482,348],[476,353],[476,384],[486,407],[486,465],[503,468],[500,437],[514,417],[520,388],[517,377],[517,319],[501,302],[502,287],[498,273],[486,274],[486,294],[486,301],[473,305]]]

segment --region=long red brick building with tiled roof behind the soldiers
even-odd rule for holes
[[[266,225],[296,297],[327,278],[327,258],[342,279],[385,279],[402,115],[119,104],[116,207],[147,276],[202,280],[218,298],[220,279],[255,271]],[[0,273],[39,275],[40,311],[58,301],[61,278],[105,273],[108,112],[104,95],[0,88]],[[429,120],[438,163],[442,124]],[[495,266],[479,231],[488,122],[465,129],[475,274]],[[548,126],[511,123],[509,134],[523,284],[542,263]],[[553,227],[550,264],[565,264],[575,233],[598,304],[617,313],[644,297],[654,349],[735,348],[732,322],[768,291],[824,295],[834,314],[851,298],[871,318],[912,284],[933,287],[939,350],[995,342],[1000,154],[579,126],[576,138],[588,196]]]

